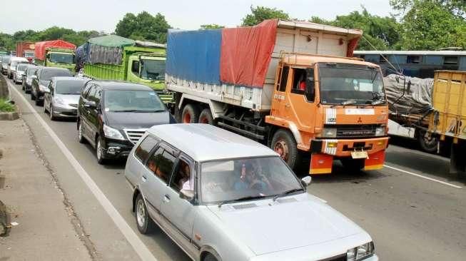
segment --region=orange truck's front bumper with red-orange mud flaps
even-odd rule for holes
[[[368,154],[364,160],[364,170],[379,170],[385,162],[385,148],[388,137],[365,139],[319,139],[310,143],[310,174],[332,172],[333,160],[352,158],[351,153],[363,151]]]

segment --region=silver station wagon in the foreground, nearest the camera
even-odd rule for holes
[[[378,260],[373,240],[307,193],[277,153],[208,124],[153,126],[131,150],[138,230],[193,260]]]

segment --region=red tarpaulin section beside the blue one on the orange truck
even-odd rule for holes
[[[278,19],[257,26],[222,29],[220,80],[262,88],[275,46]]]

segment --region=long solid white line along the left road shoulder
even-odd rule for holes
[[[118,227],[121,233],[123,233],[124,237],[126,237],[126,240],[128,240],[128,242],[131,244],[134,251],[139,255],[139,257],[141,257],[141,260],[157,261],[156,257],[152,255],[151,251],[148,250],[148,248],[146,247],[146,245],[144,245],[144,243],[138,237],[138,235],[136,235],[136,233],[131,229],[131,227],[120,215],[120,213],[118,213],[118,210],[116,210],[116,208],[111,204],[110,200],[108,200],[106,195],[103,194],[102,190],[98,188],[96,183],[94,183],[91,176],[88,175],[86,170],[84,170],[81,164],[78,163],[78,160],[74,158],[74,155],[71,154],[68,148],[66,148],[66,145],[60,140],[59,136],[56,135],[56,133],[50,128],[50,126],[44,121],[44,119],[41,118],[36,109],[33,106],[31,106],[31,104],[26,100],[26,98],[24,98],[22,93],[16,90],[15,86],[13,86],[9,80],[6,80],[6,82],[8,83],[10,90],[14,90],[16,94],[19,97],[21,97],[22,101],[26,103],[26,106],[29,108],[29,110],[31,110],[31,113],[33,113],[34,116],[36,116],[37,120],[39,121],[39,123],[41,123],[42,127],[44,127],[47,133],[49,133],[51,138],[55,141],[56,145],[59,146],[61,152],[66,156],[66,158],[68,158],[69,163],[71,163],[74,170],[76,170],[76,172],[87,185],[89,190],[91,190],[92,194],[98,200],[98,203],[101,203],[103,209],[110,216],[111,220],[113,220],[116,227]]]

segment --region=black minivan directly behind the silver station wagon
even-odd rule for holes
[[[176,123],[148,86],[119,81],[89,81],[78,102],[78,140],[96,149],[98,163],[128,156],[151,126]]]

